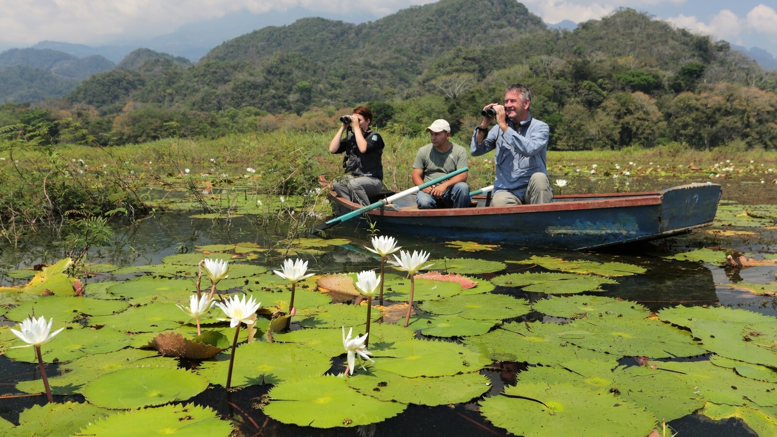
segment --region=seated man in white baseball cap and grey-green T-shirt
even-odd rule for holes
[[[431,144],[418,150],[413,162],[413,184],[420,185],[467,166],[467,151],[451,142],[451,124],[435,120],[428,128]],[[426,187],[416,194],[419,209],[466,208],[470,205],[467,172]]]

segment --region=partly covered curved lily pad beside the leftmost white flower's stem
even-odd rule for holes
[[[95,379],[96,376],[126,367],[138,367],[138,365],[165,366],[175,369],[178,362],[174,358],[160,357],[156,351],[143,351],[134,348],[105,354],[85,355],[67,364],[59,365],[58,370],[61,375],[49,375],[51,393],[80,393],[82,386]],[[44,383],[42,379],[22,381],[16,384],[16,390],[23,393],[43,393]]]

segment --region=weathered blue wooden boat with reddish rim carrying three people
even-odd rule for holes
[[[377,222],[386,233],[527,247],[585,250],[674,236],[711,225],[720,201],[717,184],[687,184],[662,191],[559,195],[552,203],[486,206],[490,196],[472,198],[472,208],[416,208],[414,195],[356,218]],[[329,193],[337,215],[361,208]]]

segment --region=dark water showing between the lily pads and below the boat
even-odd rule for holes
[[[264,229],[263,229],[264,226]],[[272,227],[272,226],[270,226]],[[92,262],[107,262],[120,266],[135,264],[157,264],[162,257],[174,253],[195,250],[195,246],[214,243],[256,242],[263,246],[274,246],[279,237],[267,236],[267,223],[260,224],[254,218],[234,218],[230,222],[222,220],[193,219],[186,215],[166,214],[150,218],[131,225],[126,229],[117,229],[116,238],[110,246],[95,248],[90,252]],[[326,252],[315,256],[306,256],[310,260],[309,271],[316,273],[340,273],[379,268],[379,259],[364,250],[368,243],[368,233],[354,229],[350,223],[339,225],[336,237],[347,238],[352,243],[345,246],[326,248]],[[625,246],[616,250],[596,253],[580,253],[559,250],[528,251],[502,247],[493,251],[459,253],[445,246],[444,241],[422,239],[418,237],[395,236],[401,246],[407,250],[427,250],[432,258],[472,257],[488,260],[523,260],[531,255],[561,257],[569,260],[596,260],[599,262],[618,261],[636,264],[647,269],[645,274],[618,278],[618,285],[605,285],[604,292],[598,295],[620,297],[635,300],[652,310],[666,306],[717,305],[743,307],[759,313],[777,316],[775,300],[751,295],[747,292],[734,292],[724,287],[731,281],[768,282],[774,280],[777,267],[754,267],[743,271],[726,271],[723,267],[710,264],[697,264],[687,261],[666,260],[664,256],[692,250],[701,245],[706,234],[695,232],[688,236],[664,240],[661,243],[642,243]],[[742,243],[749,244],[749,243]],[[51,263],[60,259],[49,242],[30,242],[19,249],[5,248],[2,251],[3,270],[31,266],[40,262]],[[250,262],[277,268],[282,256],[260,255]],[[508,264],[507,271],[524,271],[526,265]],[[490,277],[484,275],[484,278]],[[89,281],[110,279],[107,276],[90,278]],[[12,280],[5,276],[0,280],[3,285],[15,285],[26,280]],[[524,293],[514,288],[497,288],[497,292],[509,292],[516,297],[530,300],[542,299],[537,293]],[[531,315],[530,315],[531,316]],[[3,322],[0,322],[3,323]],[[5,322],[8,323],[8,322]],[[183,363],[190,365],[192,363]],[[196,364],[196,363],[195,363]],[[492,379],[493,389],[490,395],[500,392],[504,384],[514,383],[521,365],[517,363],[496,363],[501,371],[484,371]],[[47,367],[49,374],[56,374],[56,365]],[[19,381],[38,378],[36,366],[12,362],[0,356],[0,387],[2,393],[15,393],[14,384]],[[332,372],[341,372],[343,365],[336,362]],[[211,387],[190,401],[213,407],[222,416],[232,417],[243,435],[507,435],[503,429],[493,427],[477,411],[476,403],[458,404],[455,407],[420,407],[411,405],[395,418],[371,427],[336,428],[320,430],[283,425],[267,418],[256,407],[260,397],[267,393],[267,386],[249,386],[233,393],[226,393],[221,386]],[[57,402],[80,400],[81,397],[55,397]],[[19,412],[33,404],[44,404],[45,397],[19,397],[0,399],[0,417],[18,423]],[[520,414],[520,412],[517,412]],[[669,423],[679,435],[753,435],[741,421],[713,421],[698,415],[689,415]],[[570,430],[570,435],[574,430]]]

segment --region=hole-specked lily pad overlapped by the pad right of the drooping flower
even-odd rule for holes
[[[346,383],[375,399],[430,407],[469,402],[486,393],[491,386],[489,379],[477,372],[436,378],[407,378],[379,369],[354,373],[346,379]]]

